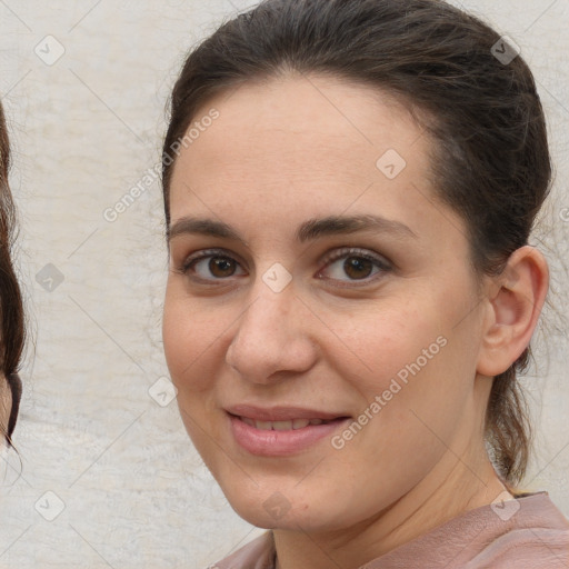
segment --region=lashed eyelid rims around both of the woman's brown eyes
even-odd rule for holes
[[[229,259],[231,261],[237,262],[239,266],[242,264],[229,251],[226,251],[223,249],[206,249],[206,250],[199,251],[199,253],[194,253],[194,254],[188,257],[183,261],[182,266],[178,269],[178,271],[181,272],[182,274],[188,276],[188,273],[192,270],[192,268],[198,262],[203,261],[206,259],[211,259],[214,257]],[[322,280],[338,281],[338,279],[322,277],[321,273],[328,267],[330,267],[332,263],[335,263],[336,261],[339,261],[340,259],[349,259],[350,257],[358,258],[358,259],[366,259],[366,260],[372,262],[373,266],[379,269],[379,271],[373,273],[370,277],[366,277],[365,279],[348,279],[347,281],[340,281],[340,282],[343,282],[343,284],[339,284],[339,287],[366,286],[366,284],[369,284],[370,282],[377,280],[378,274],[386,273],[386,272],[389,272],[392,270],[391,263],[386,258],[378,256],[378,254],[372,254],[365,249],[346,247],[346,248],[341,248],[341,249],[338,249],[338,250],[335,250],[335,251],[328,253],[322,260],[325,268],[319,270],[318,273],[316,274],[316,277],[319,279],[322,279]],[[223,283],[224,280],[228,280],[229,278],[230,277],[228,277],[227,279],[223,279],[223,278],[203,279],[201,277],[196,277],[196,276],[191,277],[192,280],[196,280],[199,282],[206,282],[209,284],[211,284],[212,282],[216,282],[216,281],[218,281],[221,284],[221,283]],[[349,284],[347,284],[347,282],[349,282]]]

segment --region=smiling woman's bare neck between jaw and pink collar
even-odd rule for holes
[[[456,516],[490,505],[505,490],[483,447],[461,457],[449,449],[408,493],[356,527],[322,533],[274,530],[277,569],[356,569]]]

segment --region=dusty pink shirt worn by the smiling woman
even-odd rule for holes
[[[516,502],[516,503],[513,503]],[[274,569],[271,532],[212,569]],[[360,569],[569,569],[569,522],[547,492],[469,510]]]

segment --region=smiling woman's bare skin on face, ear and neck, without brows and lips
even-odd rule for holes
[[[210,108],[219,119],[174,164],[163,341],[187,430],[231,506],[274,528],[279,567],[323,569],[357,568],[490,503],[505,491],[482,438],[491,378],[529,343],[542,256],[525,247],[479,282],[466,223],[429,181],[430,140],[377,90],[289,74],[242,84],[196,119]],[[388,149],[407,161],[395,179],[376,167]],[[296,239],[307,220],[369,213],[413,234]],[[186,217],[228,223],[243,242],[178,232]],[[346,247],[388,268],[353,279]],[[211,258],[183,271],[214,248],[234,259],[232,274],[212,274]],[[278,293],[262,280],[274,262],[292,277]],[[234,403],[357,418],[439,337],[446,346],[341,450],[325,438],[257,457],[231,435]],[[263,507],[274,496],[287,510],[278,519]]]

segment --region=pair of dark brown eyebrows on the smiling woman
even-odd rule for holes
[[[359,231],[391,233],[398,238],[415,238],[417,233],[400,221],[380,216],[328,216],[309,219],[299,226],[296,239],[300,243],[313,241],[321,237],[350,234]],[[168,228],[167,239],[171,241],[181,234],[202,234],[238,241],[248,247],[247,241],[231,226],[212,219],[183,217]]]

